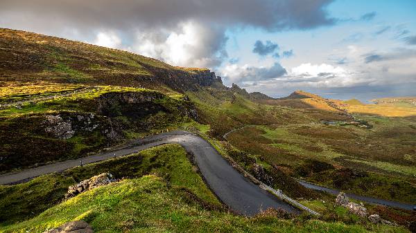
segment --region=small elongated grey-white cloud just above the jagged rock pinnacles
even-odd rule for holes
[[[264,66],[250,66],[245,64],[239,66],[238,64],[229,64],[221,71],[221,76],[229,82],[243,83],[254,82],[259,80],[271,80],[277,77],[281,77],[287,73],[279,63],[275,62],[270,67]]]

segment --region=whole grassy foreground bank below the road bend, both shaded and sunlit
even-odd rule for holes
[[[60,203],[64,192],[59,190],[103,171],[128,178]],[[273,211],[254,218],[232,214],[218,203],[178,145],[3,186],[0,195],[1,209],[8,209],[1,213],[0,232],[43,232],[73,220],[87,221],[96,232],[407,232],[360,221],[343,207],[325,221]]]

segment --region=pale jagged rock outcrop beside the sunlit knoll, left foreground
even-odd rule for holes
[[[93,176],[92,178],[83,180],[76,185],[69,186],[68,192],[65,194],[65,198],[77,196],[78,194],[87,190],[95,189],[96,187],[103,185],[108,185],[114,181],[116,181],[116,179],[114,179],[110,173],[103,173],[99,174],[98,176]]]

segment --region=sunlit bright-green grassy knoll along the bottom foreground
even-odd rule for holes
[[[203,208],[155,175],[93,189],[1,232],[42,232],[84,220],[95,232],[406,232],[386,225],[345,225],[272,216],[245,218]]]

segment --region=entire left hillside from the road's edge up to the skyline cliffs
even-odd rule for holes
[[[217,83],[204,68],[0,28],[0,173],[197,120],[184,91]]]

